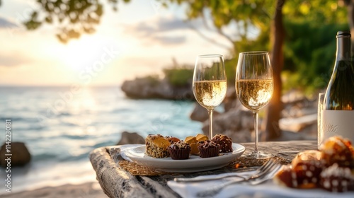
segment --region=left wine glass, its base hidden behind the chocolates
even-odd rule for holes
[[[197,57],[193,74],[193,94],[209,114],[209,138],[212,139],[212,110],[222,103],[227,91],[224,58],[218,54]]]

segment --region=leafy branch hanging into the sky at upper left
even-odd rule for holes
[[[117,10],[118,0],[107,1],[113,6],[113,10]],[[55,24],[59,29],[57,38],[63,43],[79,38],[84,33],[94,33],[95,26],[100,23],[103,15],[102,0],[38,0],[36,2],[38,9],[33,10],[30,18],[23,24],[28,30],[36,30],[43,23]],[[129,0],[124,2],[127,3]]]

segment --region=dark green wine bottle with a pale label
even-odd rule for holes
[[[350,31],[337,33],[336,62],[321,113],[321,142],[336,135],[354,142],[354,69],[350,37]]]

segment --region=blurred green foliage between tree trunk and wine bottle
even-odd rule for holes
[[[338,0],[286,1],[283,91],[305,94],[325,88],[336,59],[336,32],[348,30],[347,8]]]

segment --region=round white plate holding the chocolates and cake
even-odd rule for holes
[[[145,155],[145,145],[125,151],[125,155],[139,165],[154,168],[165,172],[190,173],[222,168],[244,153],[244,146],[232,143],[232,153],[222,153],[222,156],[200,158],[190,155],[187,160],[173,160],[169,158],[152,158]]]

